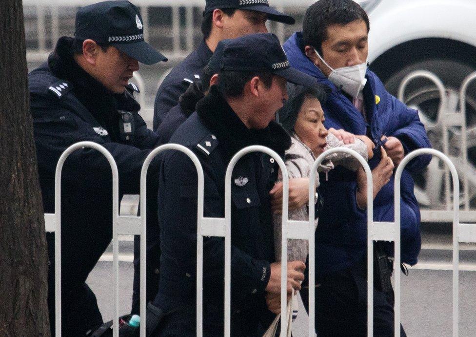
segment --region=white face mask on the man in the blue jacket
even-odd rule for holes
[[[327,64],[323,58],[320,57],[316,49],[314,49],[319,59],[331,69],[329,81],[334,83],[340,90],[345,91],[354,98],[362,91],[367,79],[365,73],[367,72],[367,62],[353,65],[350,67],[342,67],[333,69]]]

